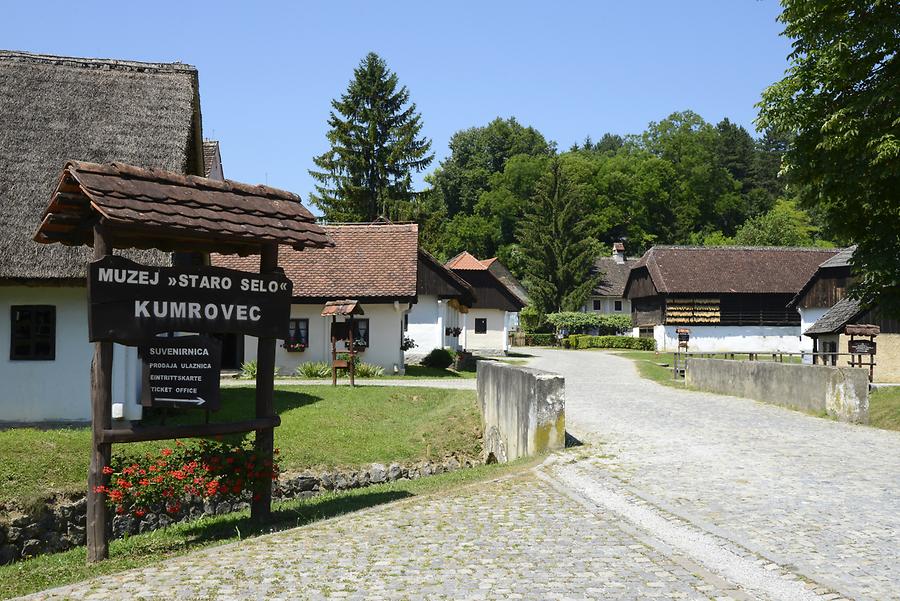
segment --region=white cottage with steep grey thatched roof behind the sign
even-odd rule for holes
[[[201,142],[194,67],[0,51],[0,422],[90,419],[91,251],[32,240],[66,159],[203,175]],[[114,355],[114,402],[136,419],[135,349]]]

